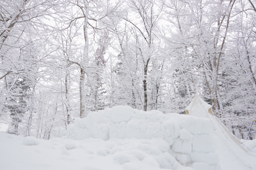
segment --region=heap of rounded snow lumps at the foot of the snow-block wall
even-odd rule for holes
[[[124,170],[140,169],[184,169],[167,151],[169,145],[161,139],[110,139],[106,148],[99,149],[98,153],[113,156]]]

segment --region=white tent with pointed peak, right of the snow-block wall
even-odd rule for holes
[[[186,107],[186,113],[191,116],[205,117],[211,120],[214,131],[212,133],[214,135],[213,142],[215,143],[217,153],[219,154],[220,164],[227,166],[221,166],[222,169],[228,169],[230,167],[233,167],[233,169],[245,169],[245,167],[255,168],[244,159],[248,155],[253,155],[246,149],[242,142],[239,141],[235,135],[231,134],[226,126],[214,116],[211,105],[207,104],[203,99],[196,95],[193,101]],[[230,162],[229,164],[221,163],[227,156],[234,157],[234,162]],[[237,160],[239,160],[240,163],[242,162],[243,165],[238,164]]]

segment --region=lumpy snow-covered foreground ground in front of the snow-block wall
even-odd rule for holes
[[[42,140],[0,132],[0,150],[0,169],[4,170],[192,169],[170,156],[169,145],[161,139]]]

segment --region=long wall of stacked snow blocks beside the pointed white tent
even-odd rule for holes
[[[170,154],[186,169],[221,169],[211,133],[209,118],[165,115],[159,111],[144,112],[129,106],[114,106],[92,112],[86,118],[76,118],[75,123],[68,126],[67,138],[158,138],[170,146],[166,154]],[[163,161],[158,162],[160,165]],[[162,165],[162,168],[181,169],[179,166],[174,167],[171,160],[169,162],[172,165]]]

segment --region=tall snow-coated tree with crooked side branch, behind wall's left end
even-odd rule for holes
[[[74,22],[79,19],[83,19],[83,38],[84,46],[81,58],[77,61],[68,60],[70,63],[77,64],[80,69],[79,80],[79,94],[80,94],[80,117],[85,117],[86,113],[86,76],[90,78],[92,72],[94,72],[95,66],[91,65],[92,60],[89,57],[89,28],[92,28],[93,34],[99,29],[110,27],[108,23],[109,17],[116,15],[117,8],[121,5],[121,2],[117,2],[115,5],[110,4],[109,1],[74,1],[73,4],[78,7],[78,15],[73,16],[68,22]],[[93,74],[93,73],[92,73]]]

